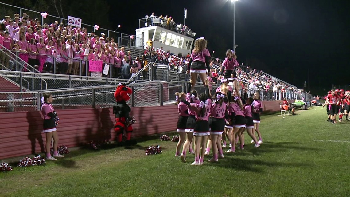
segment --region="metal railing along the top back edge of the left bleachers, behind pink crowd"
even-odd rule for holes
[[[1,10],[1,13],[4,13],[3,15],[11,15],[11,16],[13,16],[14,13],[19,13],[20,16],[22,16],[23,11],[25,11],[30,16],[30,18],[32,18],[32,19],[34,19],[34,18],[41,18],[41,25],[43,25],[44,23],[48,23],[50,25],[51,23],[54,22],[54,21],[52,21],[52,18],[54,18],[54,20],[60,21],[62,23],[68,22],[67,21],[68,19],[64,19],[64,18],[61,18],[61,17],[58,17],[58,16],[49,15],[49,14],[47,15],[47,18],[44,19],[43,16],[41,16],[41,12],[33,11],[33,10],[30,10],[30,9],[26,9],[26,8],[22,8],[22,7],[18,7],[18,6],[13,6],[13,5],[10,5],[10,4],[5,4],[3,2],[0,2],[0,5],[2,5],[0,7],[0,10]],[[9,7],[10,11],[7,11],[6,7]],[[82,23],[82,26],[87,28],[88,31],[91,31],[91,32],[93,31],[95,33],[102,33],[104,31],[106,31],[107,32],[107,37],[110,37],[110,36],[114,37],[114,36],[116,36],[115,38],[116,39],[118,38],[118,41],[120,40],[119,38],[121,38],[123,36],[130,36],[128,34],[116,32],[116,31],[113,31],[113,30],[110,30],[110,29],[101,28],[101,27],[98,30],[96,30],[94,25],[88,25],[88,24],[85,24],[85,23]],[[118,44],[121,45],[121,43],[119,43],[119,42],[118,42]]]

